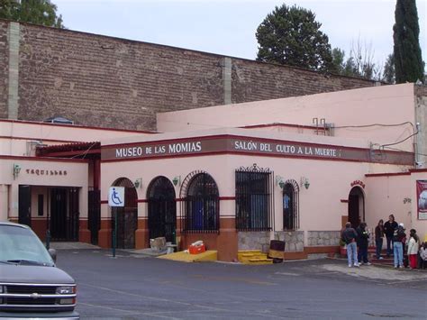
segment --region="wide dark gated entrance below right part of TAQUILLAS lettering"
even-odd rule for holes
[[[78,241],[78,188],[50,189],[50,215],[48,215],[52,241]]]

